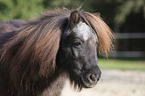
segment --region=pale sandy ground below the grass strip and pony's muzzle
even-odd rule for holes
[[[67,81],[61,96],[145,96],[145,71],[102,70],[95,87],[77,92]]]

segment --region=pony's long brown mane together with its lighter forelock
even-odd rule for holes
[[[99,53],[107,56],[113,47],[110,28],[100,16],[78,11],[82,20],[97,34]],[[1,60],[9,69],[12,81],[20,78],[18,82],[21,85],[26,80],[25,85],[29,87],[30,82],[40,77],[49,77],[55,71],[63,26],[71,12],[56,9],[43,13],[40,18],[22,25],[16,35],[2,47]]]

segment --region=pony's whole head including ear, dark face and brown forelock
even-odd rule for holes
[[[99,16],[88,12],[73,10],[66,22],[56,64],[69,73],[75,85],[90,88],[101,76],[97,49],[107,56],[113,35]]]

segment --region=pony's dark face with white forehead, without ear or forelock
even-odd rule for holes
[[[70,25],[73,26],[60,48],[61,64],[66,66],[65,70],[70,80],[76,85],[85,88],[93,87],[101,76],[97,59],[98,37],[81,20]]]

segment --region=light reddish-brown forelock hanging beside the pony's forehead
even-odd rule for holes
[[[101,55],[108,56],[108,53],[113,49],[113,39],[111,29],[103,21],[99,14],[91,14],[83,12],[82,18],[92,28],[99,39],[98,51]]]

